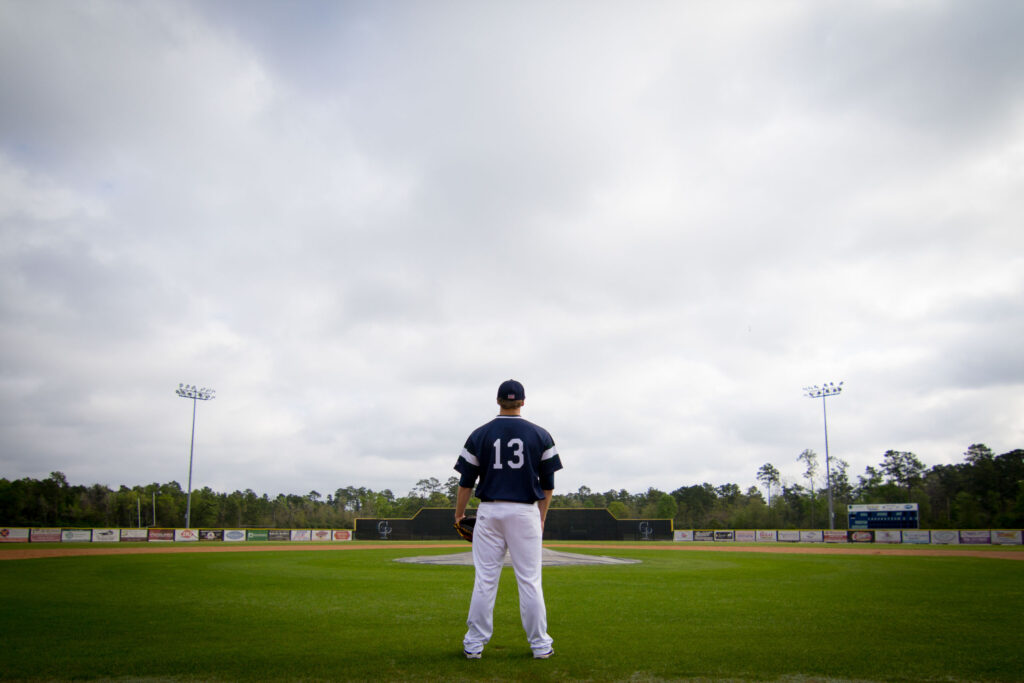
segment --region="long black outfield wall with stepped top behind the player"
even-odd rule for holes
[[[467,510],[475,514],[475,510]],[[412,517],[355,520],[356,541],[460,541],[455,508],[422,508]],[[551,508],[545,541],[672,541],[671,519],[615,519],[606,508]]]

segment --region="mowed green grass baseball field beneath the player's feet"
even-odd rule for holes
[[[392,561],[451,548],[0,561],[0,678],[1024,680],[1022,561],[574,551],[643,562],[545,569],[547,660],[511,569],[463,658],[472,568]]]

